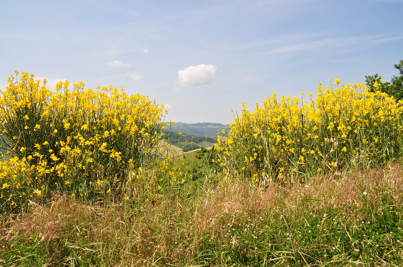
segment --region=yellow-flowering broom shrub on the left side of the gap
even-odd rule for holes
[[[11,157],[0,162],[3,207],[18,209],[52,190],[116,193],[131,170],[159,158],[167,111],[155,100],[83,82],[50,90],[46,79],[15,74],[0,90],[0,140]]]

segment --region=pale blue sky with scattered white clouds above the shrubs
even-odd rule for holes
[[[329,77],[399,75],[403,0],[11,1],[0,4],[0,86],[15,69],[112,84],[168,108],[165,121],[229,123],[276,92]]]

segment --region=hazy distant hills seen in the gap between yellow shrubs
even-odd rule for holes
[[[210,147],[217,142],[217,135],[223,136],[229,131],[229,124],[221,123],[167,123],[165,139],[173,146],[177,146],[187,152],[201,147]],[[178,133],[181,132],[182,136]]]

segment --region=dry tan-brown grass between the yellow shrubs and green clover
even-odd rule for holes
[[[3,217],[0,242],[19,249],[13,240],[39,240],[52,247],[48,257],[54,263],[66,257],[63,250],[79,248],[79,255],[68,253],[69,257],[98,255],[104,266],[197,264],[203,238],[208,236],[224,246],[223,226],[240,214],[270,220],[268,211],[292,214],[295,210],[297,216],[306,205],[311,209],[342,207],[347,214],[351,209],[365,210],[364,203],[357,200],[363,192],[373,199],[389,193],[401,201],[402,173],[403,167],[396,164],[385,170],[312,178],[300,185],[268,186],[228,181],[215,187],[206,178],[197,194],[189,198],[162,196],[160,201],[141,205],[101,206],[54,196],[49,205],[37,206],[29,214]]]

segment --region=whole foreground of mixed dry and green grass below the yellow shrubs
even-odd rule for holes
[[[198,162],[197,152],[182,159]],[[54,196],[2,216],[0,266],[402,266],[403,168],[301,185],[190,182],[186,197],[82,203]]]

